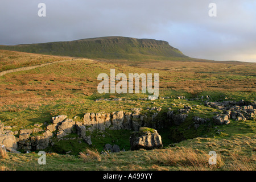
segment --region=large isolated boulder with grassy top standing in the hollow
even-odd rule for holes
[[[151,150],[153,148],[162,148],[162,138],[156,130],[154,133],[151,131],[135,131],[130,136],[131,150],[139,150],[144,148],[146,150]]]

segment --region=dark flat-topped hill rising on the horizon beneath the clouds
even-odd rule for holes
[[[121,36],[81,39],[69,42],[0,46],[0,49],[90,59],[170,60],[174,57],[187,57],[166,41]]]

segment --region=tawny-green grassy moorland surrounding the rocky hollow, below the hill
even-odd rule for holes
[[[49,61],[67,60],[45,67],[8,73],[0,77],[0,120],[5,126],[16,126],[12,131],[31,129],[36,123],[46,123],[51,117],[65,114],[79,122],[84,113],[104,111],[130,111],[132,108],[169,107],[175,112],[192,106],[184,125],[177,128],[159,130],[164,148],[151,151],[129,151],[130,130],[106,130],[105,137],[97,131],[92,134],[92,146],[75,140],[55,141],[54,147],[47,148],[47,165],[39,166],[36,152],[30,154],[0,155],[2,170],[255,170],[254,120],[234,121],[205,129],[187,130],[194,115],[211,118],[220,113],[213,107],[204,105],[205,100],[178,100],[176,96],[195,98],[211,96],[210,101],[255,100],[256,65],[236,61],[167,61],[157,63],[134,63],[133,66],[119,60],[89,60],[72,57],[53,57],[31,53],[0,51],[2,71]],[[16,56],[13,58],[12,56]],[[30,58],[32,57],[32,58]],[[15,59],[15,66],[11,61]],[[73,60],[72,60],[73,59]],[[32,61],[28,61],[32,60]],[[126,63],[129,62],[126,60]],[[97,76],[110,69],[117,73],[159,73],[160,97],[170,97],[155,101],[138,100],[147,94],[99,94]],[[172,96],[172,97],[171,97]],[[97,98],[123,98],[122,101],[96,101]],[[166,116],[159,114],[158,119]],[[220,133],[216,133],[220,130]],[[175,131],[175,132],[174,132]],[[181,135],[182,134],[182,135]],[[77,137],[70,134],[67,138]],[[181,141],[182,140],[182,141]],[[105,143],[118,144],[126,152],[101,155]],[[68,155],[66,152],[71,151]],[[86,151],[87,150],[87,151]],[[209,151],[216,151],[217,166],[209,166]],[[90,152],[92,158],[86,158]]]

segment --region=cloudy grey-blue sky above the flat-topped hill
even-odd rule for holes
[[[46,16],[38,15],[39,3],[46,5]],[[209,16],[210,3],[216,16]],[[190,57],[256,63],[256,1],[0,1],[0,44],[102,36],[165,40]]]

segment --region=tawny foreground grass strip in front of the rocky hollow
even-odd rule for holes
[[[247,143],[246,143],[247,141]],[[236,144],[230,148],[228,144]],[[254,137],[229,139],[195,138],[176,147],[158,150],[139,150],[99,154],[96,150],[81,152],[80,156],[47,154],[46,165],[38,165],[39,156],[9,154],[9,159],[0,159],[5,170],[210,170],[210,171],[255,171],[256,158]],[[217,164],[210,165],[209,151],[216,151]],[[87,155],[89,154],[89,155]]]

